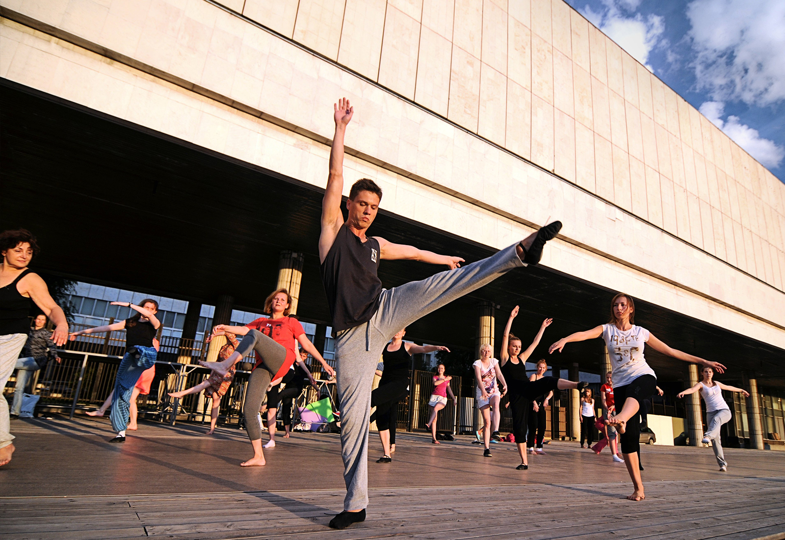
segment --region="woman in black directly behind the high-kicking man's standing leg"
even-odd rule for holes
[[[406,329],[400,330],[392,336],[392,341],[382,351],[384,371],[376,370],[381,375],[379,386],[371,392],[371,407],[376,407],[376,412],[371,415],[371,421],[376,419],[376,428],[379,430],[379,440],[382,441],[384,455],[376,460],[377,463],[392,462],[390,454],[395,451],[395,432],[398,418],[398,403],[409,392],[409,376],[411,370],[411,355],[423,354],[433,351],[449,351],[440,345],[414,345],[404,343],[403,336]]]

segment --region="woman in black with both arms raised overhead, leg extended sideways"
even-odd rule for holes
[[[542,321],[534,341],[531,341],[531,345],[521,352],[520,338],[509,333],[510,328],[513,326],[513,319],[517,315],[518,306],[515,306],[509,314],[506,327],[504,327],[504,336],[502,337],[502,373],[509,381],[509,407],[513,410],[513,435],[520,454],[520,465],[516,469],[526,470],[529,468],[526,458],[526,429],[528,427],[528,412],[531,408],[530,403],[536,400],[537,396],[542,396],[546,392],[566,389],[582,390],[589,383],[544,376],[531,381],[526,374],[526,360],[539,345],[542,334],[550,326],[550,323],[553,323],[553,319]]]

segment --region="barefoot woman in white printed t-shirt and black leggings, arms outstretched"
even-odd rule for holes
[[[675,348],[670,348],[655,338],[643,327],[634,324],[635,305],[629,294],[619,293],[611,302],[611,321],[585,332],[576,332],[567,338],[561,338],[550,346],[549,352],[564,348],[571,341],[602,338],[608,347],[613,371],[613,393],[616,406],[615,416],[605,421],[613,425],[619,432],[622,443],[622,454],[633,480],[635,491],[628,499],[642,501],[644,499],[643,482],[641,481],[640,462],[637,452],[641,449],[640,411],[645,412],[645,400],[654,395],[657,388],[657,377],[644,359],[644,345],[648,343],[655,351],[673,356],[685,362],[699,363],[722,373],[725,366],[717,362],[709,362],[698,356],[692,356]]]

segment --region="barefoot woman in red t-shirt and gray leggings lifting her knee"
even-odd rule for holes
[[[327,365],[319,351],[313,346],[311,340],[305,335],[302,325],[298,319],[289,316],[291,297],[286,289],[272,291],[265,301],[265,312],[271,314],[268,317],[261,317],[246,324],[244,327],[230,327],[226,324],[219,324],[213,328],[213,333],[208,338],[214,338],[230,332],[240,336],[245,336],[240,342],[232,356],[223,362],[199,362],[204,367],[209,367],[218,374],[227,372],[235,363],[238,363],[251,350],[256,352],[256,366],[250,374],[248,389],[246,390],[245,403],[243,403],[243,417],[245,418],[246,431],[251,445],[254,447],[254,457],[240,465],[248,467],[251,465],[265,465],[265,454],[261,447],[261,426],[257,421],[257,414],[261,407],[261,402],[265,399],[270,382],[276,382],[287,374],[289,368],[297,358],[294,350],[294,340],[300,342],[300,346],[308,351],[311,356],[318,359],[325,367],[327,373],[332,376],[334,370]]]

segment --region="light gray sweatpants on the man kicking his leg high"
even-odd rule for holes
[[[382,348],[398,330],[462,297],[513,268],[525,266],[516,246],[447,270],[422,281],[382,290],[381,303],[368,323],[342,330],[335,340],[338,398],[341,402],[341,458],[346,483],[345,510],[368,505],[368,429],[371,386]]]

